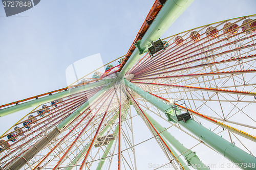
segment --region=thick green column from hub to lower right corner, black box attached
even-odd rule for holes
[[[169,116],[176,122],[178,122],[177,117],[175,116],[174,110],[171,109],[171,105],[167,105],[164,102],[157,99],[155,96],[151,95],[150,93],[145,92],[138,86],[134,85],[133,83],[124,80],[126,86],[131,88],[133,91],[138,93],[143,99],[147,102],[150,102],[156,108],[161,110],[164,113],[170,113]],[[193,119],[189,119],[184,123],[183,121],[179,122],[179,125],[185,127],[191,133],[199,137],[202,141],[210,145],[212,149],[229,159],[233,163],[250,163],[256,162],[256,158],[252,155],[246,153],[242,149],[236,147],[234,143],[230,143],[227,140],[223,139],[219,135],[211,132],[210,130],[206,129],[199,123],[195,122]],[[242,169],[253,169],[250,167],[242,167]]]

